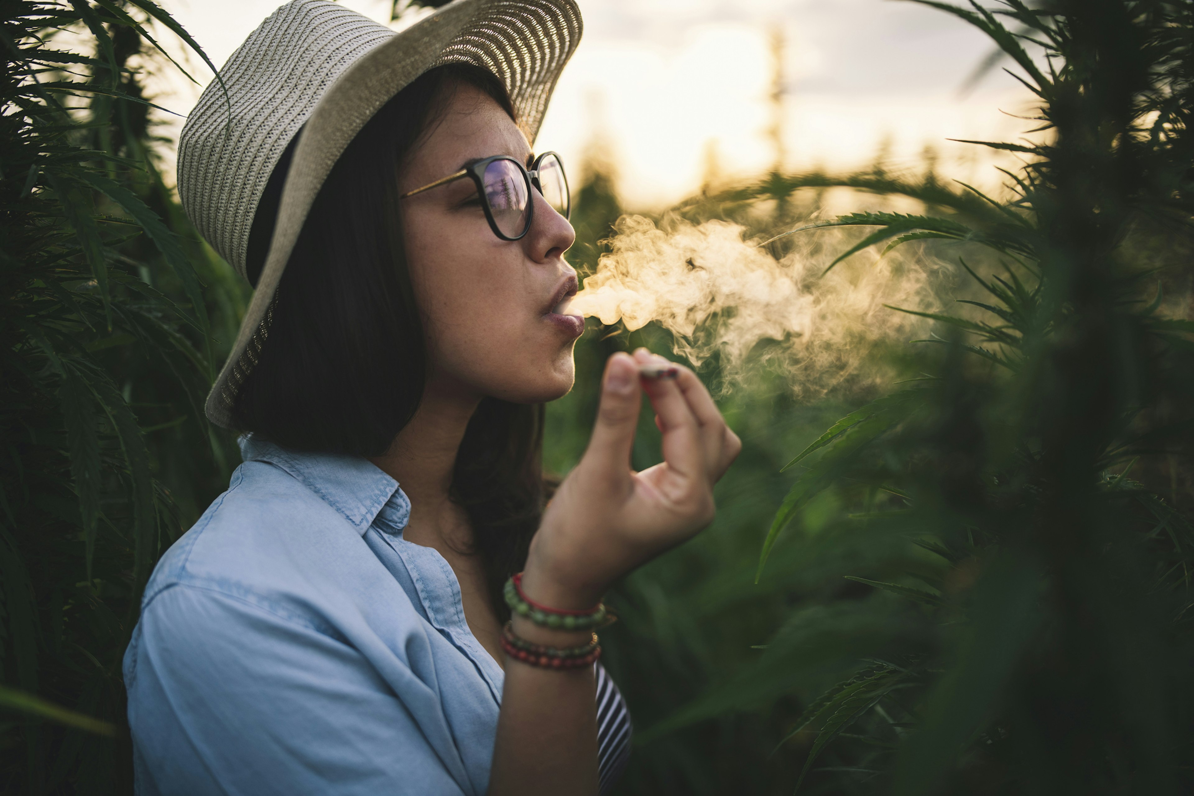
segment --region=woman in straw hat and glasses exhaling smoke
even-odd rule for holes
[[[567,181],[529,141],[578,37],[566,0],[458,0],[396,36],[295,0],[189,119],[187,212],[257,288],[208,402],[245,463],[146,590],[139,792],[613,780],[602,594],[708,524],[739,443],[690,371],[615,354],[543,507],[542,403],[584,323]],[[665,462],[635,474],[642,391]]]

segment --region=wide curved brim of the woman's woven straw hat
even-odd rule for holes
[[[303,222],[336,161],[370,118],[426,70],[469,62],[497,74],[510,92],[518,124],[534,142],[552,91],[580,41],[573,0],[456,0],[378,44],[347,67],[303,124],[287,173],[269,254],[240,331],[204,407],[217,426],[233,428],[233,403],[248,370],[251,344],[267,333],[267,313]],[[254,335],[257,340],[254,341]],[[240,363],[240,364],[239,364]],[[233,371],[239,370],[233,380]]]

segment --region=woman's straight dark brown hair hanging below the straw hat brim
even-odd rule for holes
[[[303,224],[269,333],[234,403],[239,430],[303,451],[378,456],[423,397],[427,353],[399,222],[399,172],[461,84],[511,118],[505,86],[469,64],[432,69],[387,103],[337,161]],[[253,221],[260,273],[289,152]],[[468,424],[451,498],[472,523],[491,593],[522,568],[544,500],[543,407],[485,399]],[[500,599],[494,607],[505,609]]]

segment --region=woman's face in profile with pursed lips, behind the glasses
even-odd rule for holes
[[[466,161],[511,155],[529,166],[530,146],[504,110],[467,84],[416,146],[400,178],[407,192],[458,171]],[[517,403],[560,397],[572,388],[572,346],[583,319],[553,310],[577,290],[564,261],[576,233],[538,191],[522,240],[490,229],[472,179],[402,199],[402,233],[423,313],[430,382]]]

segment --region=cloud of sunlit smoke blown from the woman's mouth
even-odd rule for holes
[[[821,276],[849,246],[844,233],[788,237],[798,247],[780,260],[744,241],[743,227],[721,221],[667,220],[658,228],[622,216],[615,233],[572,311],[607,325],[621,320],[630,331],[657,321],[694,364],[720,353],[727,385],[780,359],[796,393],[824,391],[857,374],[875,343],[906,340],[924,327],[884,307],[925,303],[933,266],[912,249],[881,259],[863,252]],[[758,345],[765,340],[774,343]]]

